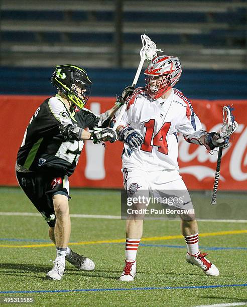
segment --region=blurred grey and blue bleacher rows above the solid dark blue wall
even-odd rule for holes
[[[2,0],[1,64],[50,67],[58,58],[68,62],[72,57],[85,67],[115,66],[118,2]],[[246,10],[241,0],[155,0],[152,5],[122,0],[121,67],[138,63],[140,35],[145,32],[159,48],[179,55],[185,67],[246,68],[245,52],[240,52],[246,51]],[[205,54],[211,49],[214,57],[209,59]]]

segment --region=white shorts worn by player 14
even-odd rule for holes
[[[174,201],[167,205],[184,210],[193,208],[185,183],[176,170],[146,172],[140,169],[123,168],[122,174],[123,185],[128,196],[150,197],[152,195],[156,199],[172,196],[181,201]]]

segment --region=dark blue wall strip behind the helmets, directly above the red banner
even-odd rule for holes
[[[49,83],[53,69],[1,67],[0,94],[53,95],[55,88]],[[93,82],[92,96],[119,95],[125,86],[132,83],[136,72],[135,69],[114,68],[87,70]],[[185,69],[177,86],[189,98],[246,99],[246,83],[245,70]],[[144,75],[140,76],[138,86],[144,86]]]

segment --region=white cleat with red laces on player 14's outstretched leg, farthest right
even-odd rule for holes
[[[201,251],[199,251],[198,254],[195,255],[191,255],[189,253],[186,254],[186,261],[188,263],[191,264],[195,264],[197,265],[200,269],[203,270],[203,272],[206,275],[209,276],[218,276],[219,275],[219,270],[217,269],[217,267],[211,263],[208,259],[205,258],[205,256],[207,256],[208,253],[201,253]]]

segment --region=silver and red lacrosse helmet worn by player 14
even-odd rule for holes
[[[160,98],[178,82],[181,73],[179,58],[165,55],[155,57],[144,72],[149,96]]]

